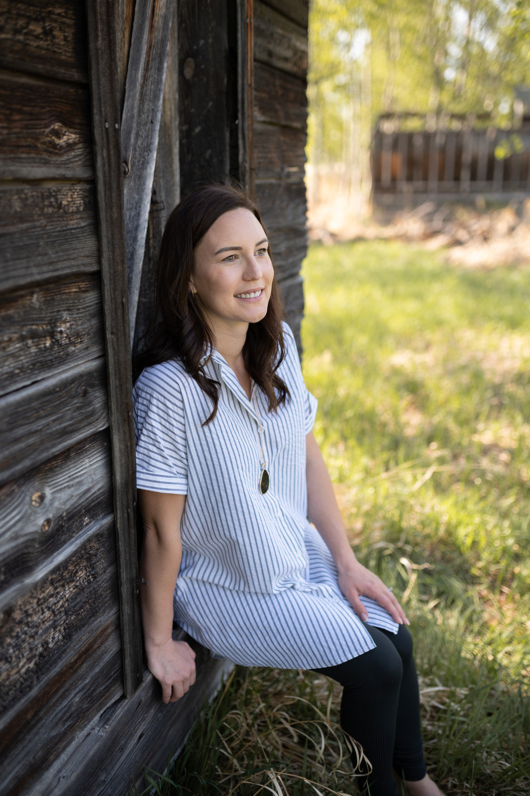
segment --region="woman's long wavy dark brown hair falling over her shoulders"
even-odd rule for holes
[[[170,213],[154,273],[154,322],[134,360],[134,373],[138,376],[150,365],[179,359],[212,400],[212,413],[203,426],[214,419],[219,403],[220,384],[210,379],[204,369],[216,341],[200,299],[189,290],[189,280],[197,246],[208,229],[224,213],[240,208],[250,210],[264,228],[257,205],[233,185],[197,188]],[[272,259],[271,244],[268,253]],[[249,323],[243,348],[245,367],[267,396],[269,412],[276,412],[289,397],[289,390],[277,373],[286,354],[282,318],[283,306],[274,277],[267,314],[261,321]]]

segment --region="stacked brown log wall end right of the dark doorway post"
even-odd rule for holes
[[[254,0],[252,184],[300,345],[306,256],[307,0]]]

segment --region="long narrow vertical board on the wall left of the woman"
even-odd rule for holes
[[[131,696],[142,673],[142,634],[138,593],[134,583],[138,578],[136,458],[119,131],[119,75],[113,13],[111,4],[106,0],[87,2],[88,64],[107,351],[123,677],[125,693]]]

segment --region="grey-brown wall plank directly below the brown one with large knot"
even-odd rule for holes
[[[0,291],[99,271],[92,185],[2,185],[0,248]]]

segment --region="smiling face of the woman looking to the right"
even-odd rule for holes
[[[195,250],[189,287],[197,291],[216,337],[267,313],[274,271],[267,236],[250,210],[228,210]]]

